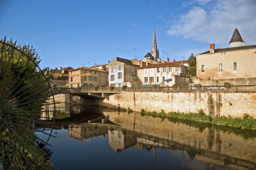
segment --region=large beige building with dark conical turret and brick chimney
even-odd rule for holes
[[[221,80],[256,77],[256,45],[244,46],[244,38],[236,28],[230,48],[215,49],[197,55],[197,77],[200,80]]]

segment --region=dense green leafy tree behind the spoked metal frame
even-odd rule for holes
[[[0,39],[0,156],[4,169],[38,169],[45,164],[45,148],[37,146],[34,126],[52,95],[49,89],[49,77],[39,68],[33,46]]]

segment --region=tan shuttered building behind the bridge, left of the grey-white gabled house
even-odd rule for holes
[[[107,87],[108,71],[79,67],[69,71],[69,88],[72,87]]]

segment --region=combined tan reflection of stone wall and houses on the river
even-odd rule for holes
[[[69,136],[86,140],[108,137],[108,145],[118,153],[127,148],[140,148],[157,153],[157,148],[181,150],[191,159],[230,169],[256,169],[256,138],[244,138],[215,127],[198,128],[168,119],[139,113],[100,109],[112,124],[69,124]]]

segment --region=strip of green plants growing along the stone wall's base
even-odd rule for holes
[[[156,111],[148,112],[144,109],[141,109],[140,114],[142,116],[144,115],[151,115],[152,117],[160,117],[161,119],[169,119],[170,121],[193,121],[193,122],[201,122],[201,123],[209,123],[210,125],[218,125],[223,127],[235,127],[240,130],[254,130],[256,132],[256,119],[254,117],[250,116],[248,113],[244,113],[243,118],[240,117],[232,117],[232,116],[221,116],[213,118],[210,115],[205,115],[203,113],[203,110],[199,110],[198,113],[177,113],[177,112],[171,112],[171,113],[165,113],[163,110],[160,113],[157,113]],[[186,122],[187,124],[187,122]],[[196,123],[198,124],[198,123]],[[193,125],[196,126],[196,125]],[[202,129],[202,125],[200,125]],[[207,127],[203,126],[203,128]]]

